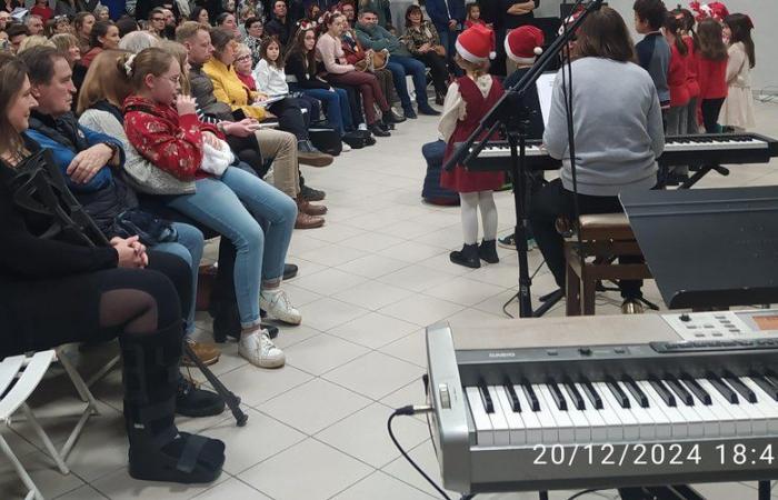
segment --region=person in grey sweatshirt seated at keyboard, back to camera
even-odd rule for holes
[[[573,52],[572,86],[557,76],[543,143],[562,160],[560,178],[532,199],[535,239],[561,290],[563,240],[558,217],[573,213],[573,177],[565,112],[565,89],[572,92],[572,130],[580,213],[621,212],[618,194],[649,190],[657,181],[657,158],[665,149],[661,108],[651,77],[635,60],[624,19],[610,8],[587,18]],[[638,258],[639,259],[639,258]],[[620,260],[634,261],[627,257]],[[639,261],[639,260],[638,260]],[[621,281],[624,312],[641,312],[640,281]]]

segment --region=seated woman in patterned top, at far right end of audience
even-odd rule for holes
[[[429,68],[432,74],[432,84],[435,84],[435,103],[442,106],[448,89],[446,48],[440,44],[438,30],[431,22],[425,20],[419,6],[409,6],[406,10],[403,41],[408,51]]]

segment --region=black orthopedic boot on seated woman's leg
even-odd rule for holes
[[[130,476],[146,481],[211,482],[225,443],[179,432],[173,422],[183,331],[176,322],[150,334],[122,334],[124,422]]]

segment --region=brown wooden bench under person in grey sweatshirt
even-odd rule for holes
[[[565,221],[558,221],[557,226],[561,232],[569,233],[565,231]],[[642,256],[626,214],[580,216],[575,230],[580,232],[581,244],[575,236],[565,242],[567,316],[595,314],[598,281],[651,278],[646,263],[622,264],[615,260],[618,256]]]

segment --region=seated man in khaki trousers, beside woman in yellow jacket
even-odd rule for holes
[[[213,50],[208,28],[197,22],[184,22],[176,31],[176,38],[189,52],[189,63],[191,64],[189,83],[192,97],[197,100],[198,107],[205,116],[219,121],[218,126],[227,134],[227,141],[232,148],[235,150],[242,149],[242,147],[236,146],[236,142],[253,132],[262,156],[273,160],[273,186],[276,188],[293,200],[308,202],[323,200],[323,191],[319,191],[321,196],[306,196],[302,178],[299,176],[297,139],[293,134],[281,130],[256,130],[253,126],[246,123],[247,120],[236,120],[231,107],[217,100],[213,93],[213,82],[202,70],[203,64],[211,59]],[[251,119],[248,121],[252,122]],[[250,128],[250,131],[243,134],[247,127]],[[318,191],[312,188],[309,190]],[[306,213],[305,210],[315,206],[301,203],[298,207],[296,229],[313,229],[325,223],[322,218]]]

